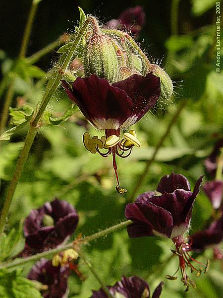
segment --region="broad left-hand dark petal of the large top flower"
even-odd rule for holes
[[[72,91],[66,82],[62,81],[62,84],[67,95],[77,104],[85,118],[96,127],[98,119],[115,119],[118,127],[111,129],[118,129],[131,115],[133,103],[127,93],[111,86],[105,78],[95,74],[84,78],[78,77],[73,82]]]

